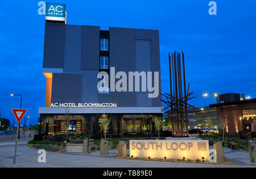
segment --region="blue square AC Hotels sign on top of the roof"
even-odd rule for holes
[[[67,22],[67,11],[65,4],[46,3],[46,22]]]

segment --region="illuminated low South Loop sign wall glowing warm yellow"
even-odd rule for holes
[[[130,140],[130,157],[209,159],[208,140]]]

